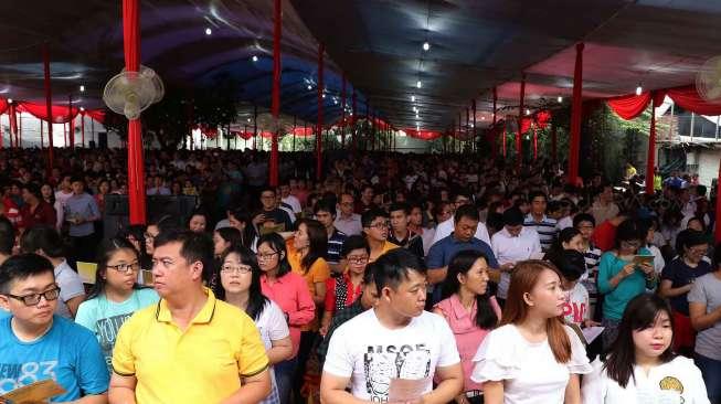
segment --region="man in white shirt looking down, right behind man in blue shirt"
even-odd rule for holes
[[[523,226],[523,213],[518,208],[510,208],[503,212],[503,228],[494,234],[490,245],[501,270],[496,298],[502,301],[508,295],[516,263],[541,258],[541,241],[536,230]]]

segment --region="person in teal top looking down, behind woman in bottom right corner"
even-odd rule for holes
[[[603,348],[607,350],[618,334],[618,323],[626,305],[658,283],[654,265],[636,261],[636,255],[651,255],[642,247],[647,230],[637,220],[618,225],[615,247],[601,256],[598,291],[604,295],[602,326]]]

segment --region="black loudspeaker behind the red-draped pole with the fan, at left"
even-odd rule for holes
[[[178,195],[146,196],[146,209],[148,223],[161,217],[176,224],[178,227],[185,227],[190,215],[195,210],[197,196]],[[105,213],[103,214],[105,238],[114,237],[118,231],[129,225],[130,209],[127,195],[106,195]]]

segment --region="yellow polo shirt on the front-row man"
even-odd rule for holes
[[[138,404],[219,403],[241,387],[241,378],[267,369],[253,320],[205,293],[208,301],[184,331],[173,323],[165,299],[120,328],[113,370],[136,376]]]

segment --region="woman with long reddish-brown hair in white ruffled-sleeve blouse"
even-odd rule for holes
[[[501,327],[478,348],[470,379],[486,404],[580,404],[579,374],[591,372],[576,333],[563,325],[559,270],[544,261],[518,263]]]

